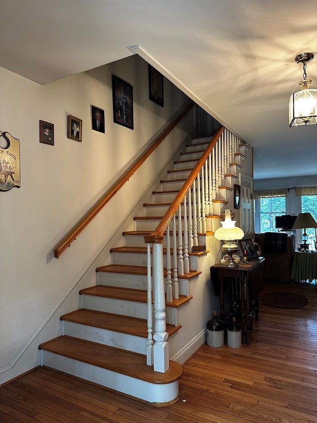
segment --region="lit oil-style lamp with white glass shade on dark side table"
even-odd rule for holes
[[[227,267],[235,267],[238,264],[234,261],[232,254],[239,251],[239,246],[236,244],[238,240],[244,237],[244,232],[241,228],[234,226],[236,221],[231,220],[230,210],[225,210],[225,219],[221,223],[221,228],[214,232],[214,238],[223,242],[221,251],[228,256],[226,261],[222,264]]]

